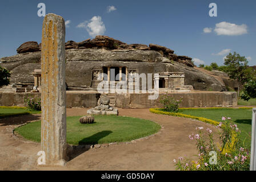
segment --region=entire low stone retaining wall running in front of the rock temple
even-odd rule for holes
[[[67,107],[95,107],[100,93],[94,91],[67,91]],[[41,97],[41,93],[5,93],[0,92],[0,106],[23,106],[23,97],[27,94]],[[190,92],[170,93],[176,99],[183,97],[181,107],[221,107],[237,106],[236,92]],[[115,106],[123,109],[162,107],[159,100],[149,100],[151,94],[116,94]],[[162,94],[159,94],[159,97]]]

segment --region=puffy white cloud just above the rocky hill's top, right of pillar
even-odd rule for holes
[[[91,37],[103,35],[106,31],[105,24],[101,20],[101,16],[93,16],[90,21],[79,23],[78,28],[86,28]]]

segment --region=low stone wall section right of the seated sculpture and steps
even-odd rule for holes
[[[162,107],[158,100],[149,100],[151,94],[118,94],[115,98],[116,106],[121,108]],[[191,92],[171,93],[175,99],[183,98],[181,107],[219,107],[237,106],[236,92]],[[159,94],[159,97],[161,94]]]

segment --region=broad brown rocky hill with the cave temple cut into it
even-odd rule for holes
[[[156,44],[126,44],[107,36],[83,42],[68,41],[66,48],[66,83],[70,88],[90,88],[91,69],[111,66],[142,68],[144,73],[184,72],[185,85],[195,90],[226,91],[232,84],[227,76],[206,73],[194,66],[190,57]],[[11,71],[11,83],[33,84],[34,69],[41,69],[41,44],[23,43],[17,55],[2,57],[0,65]],[[142,73],[142,71],[141,71]]]

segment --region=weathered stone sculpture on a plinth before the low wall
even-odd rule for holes
[[[98,106],[94,107],[93,109],[87,110],[87,114],[118,115],[118,109],[110,107],[109,103],[110,103],[109,97],[102,96],[101,98],[99,98]]]

